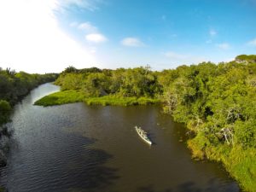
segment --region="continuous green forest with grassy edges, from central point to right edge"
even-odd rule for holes
[[[61,92],[36,104],[135,105],[160,101],[166,113],[187,126],[194,158],[222,162],[243,189],[256,190],[256,55],[162,72],[150,67],[67,67],[55,84],[61,85]]]

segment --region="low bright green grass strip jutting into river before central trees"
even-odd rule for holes
[[[99,96],[99,97],[86,97],[81,90],[64,90],[44,96],[35,102],[39,106],[54,106],[73,102],[85,102],[88,105],[117,105],[117,106],[131,106],[131,105],[148,105],[160,102],[158,99],[150,97],[123,97],[123,96]]]

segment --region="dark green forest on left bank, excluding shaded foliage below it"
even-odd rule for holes
[[[37,87],[39,84],[55,81],[57,75],[16,73],[0,67],[0,126],[9,121],[9,114],[13,106],[22,96]]]

